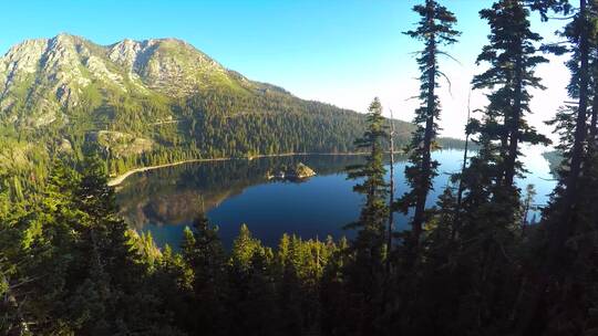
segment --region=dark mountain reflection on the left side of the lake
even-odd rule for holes
[[[270,181],[268,171],[303,162],[320,178],[340,174],[347,166],[362,160],[363,156],[311,155],[183,164],[128,177],[117,187],[116,199],[130,225],[138,230],[152,229],[156,240],[164,243],[156,231],[167,229],[161,228],[189,225],[200,211],[209,217],[210,210],[251,186],[308,181]]]

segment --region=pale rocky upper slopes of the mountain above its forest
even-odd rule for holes
[[[0,119],[40,127],[120,96],[184,97],[209,87],[258,86],[181,40],[104,46],[59,34],[22,42],[0,57]]]

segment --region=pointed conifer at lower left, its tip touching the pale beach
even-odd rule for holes
[[[76,328],[91,334],[176,334],[162,314],[159,294],[144,286],[148,260],[135,248],[126,223],[117,216],[114,189],[106,185],[105,165],[87,156],[73,191],[73,204],[82,216],[75,251],[82,260],[83,282],[72,292],[72,313],[81,321]],[[75,319],[76,321],[76,319]]]

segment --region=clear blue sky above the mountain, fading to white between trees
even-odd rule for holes
[[[247,77],[285,87],[292,94],[365,112],[378,96],[394,117],[410,120],[417,102],[421,42],[404,35],[421,0],[29,0],[11,1],[0,12],[0,53],[27,39],[61,32],[99,44],[125,38],[177,38]],[[470,82],[484,65],[475,59],[487,42],[488,27],[478,11],[491,0],[441,0],[453,11],[460,43],[446,48],[440,125],[443,136],[463,137]],[[556,41],[563,21],[544,23],[533,14],[533,30]],[[547,86],[534,91],[529,123],[551,136],[544,120],[567,98],[569,75],[564,59],[550,57],[537,74]],[[450,87],[448,87],[450,86]],[[483,93],[471,95],[471,108],[485,105]]]

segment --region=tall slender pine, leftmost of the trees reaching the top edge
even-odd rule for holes
[[[412,253],[415,253],[420,244],[422,225],[426,220],[425,202],[439,167],[439,162],[432,159],[441,112],[436,95],[437,80],[444,75],[440,71],[439,56],[446,55],[441,48],[455,43],[460,32],[454,29],[455,15],[435,0],[425,0],[424,4],[415,6],[413,11],[420,14],[421,20],[416,30],[408,31],[405,34],[423,41],[425,48],[417,57],[421,72],[419,95],[421,106],[415,111],[413,119],[417,129],[406,148],[411,153],[409,159],[411,165],[405,168],[405,177],[411,186],[411,191],[403,196],[400,207],[405,213],[410,207],[415,208],[411,221],[412,237],[410,239]]]

